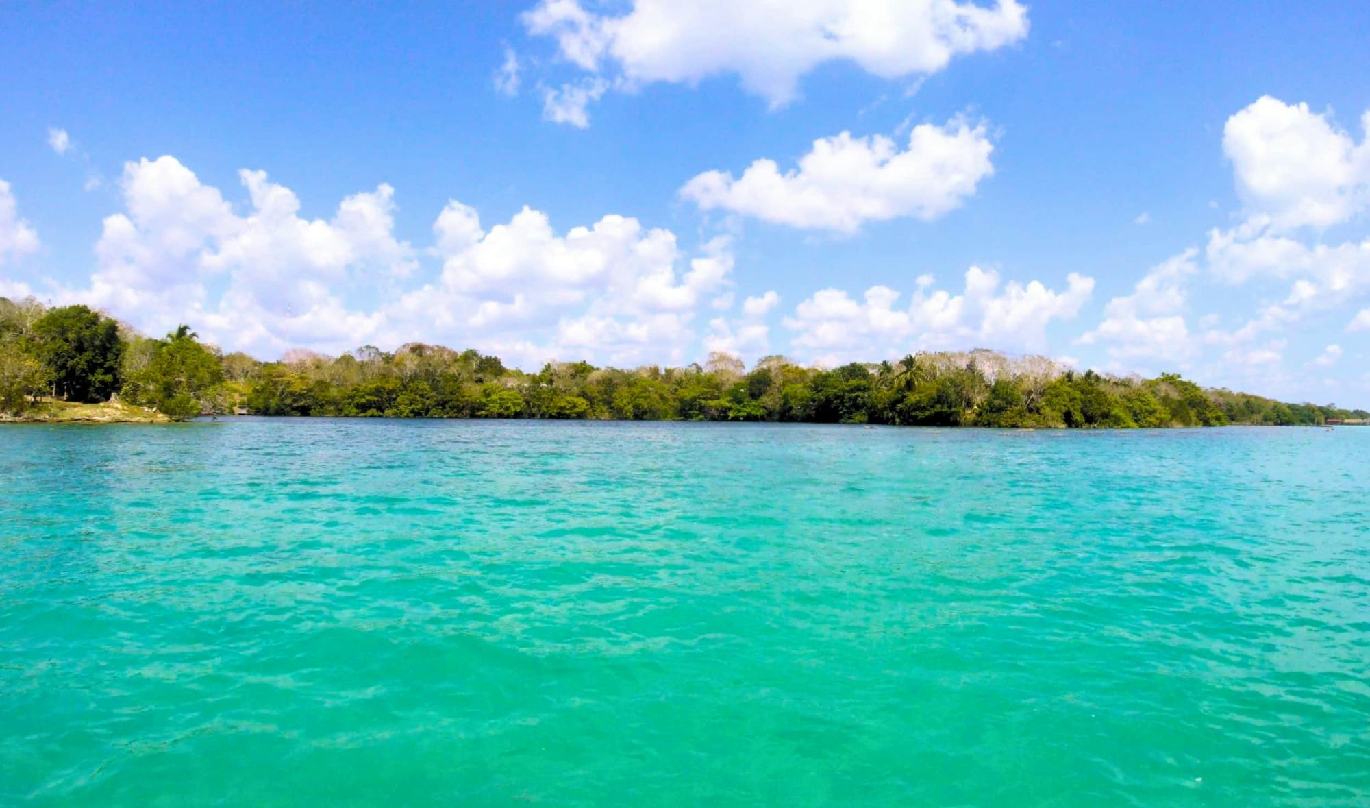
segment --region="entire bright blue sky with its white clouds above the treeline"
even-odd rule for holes
[[[1370,7],[858,8],[4,4],[0,294],[263,357],[988,346],[1370,401]]]

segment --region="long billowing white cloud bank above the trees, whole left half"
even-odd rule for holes
[[[89,283],[52,297],[104,307],[151,333],[190,323],[226,349],[260,356],[426,340],[525,366],[689,362],[697,314],[732,305],[727,237],[686,253],[670,230],[630,216],[559,231],[527,207],[486,227],[451,200],[421,252],[395,236],[389,185],[345,197],[323,219],[303,215],[295,192],[264,171],[242,170],[238,181],[242,203],[175,157],[127,163],[123,210],[104,219]],[[11,223],[4,234],[26,227],[3,184],[0,220]],[[32,230],[22,233],[22,249],[36,247]],[[4,253],[15,252],[11,242],[0,242]],[[441,267],[414,279],[423,255]],[[8,281],[0,290],[30,292]],[[775,296],[759,300],[752,308]],[[755,330],[747,334],[755,341]]]

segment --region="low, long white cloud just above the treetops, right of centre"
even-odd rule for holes
[[[784,323],[795,334],[790,345],[829,362],[967,345],[1037,352],[1045,349],[1047,325],[1073,319],[1093,286],[1093,278],[1075,273],[1062,292],[1038,281],[1001,286],[999,273],[973,266],[959,294],[933,289],[929,275],[918,278],[908,305],[899,305],[900,293],[888,286],[871,286],[860,301],[822,289]]]

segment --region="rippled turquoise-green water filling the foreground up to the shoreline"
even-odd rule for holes
[[[0,429],[0,805],[1367,805],[1370,429]]]

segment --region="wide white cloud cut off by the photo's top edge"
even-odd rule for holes
[[[849,60],[886,79],[936,73],[958,55],[993,51],[1028,33],[1015,0],[991,7],[956,0],[634,0],[623,14],[586,11],[578,0],[543,0],[523,15],[560,55],[625,86],[696,84],[737,74],[780,107],[817,66]]]

